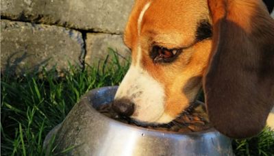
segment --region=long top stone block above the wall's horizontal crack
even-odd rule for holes
[[[121,34],[134,0],[5,0],[1,16]]]

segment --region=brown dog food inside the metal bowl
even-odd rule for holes
[[[130,125],[155,129],[159,131],[174,131],[179,133],[204,131],[211,128],[208,121],[208,116],[206,114],[205,106],[201,102],[197,102],[194,105],[191,105],[191,107],[184,111],[178,118],[172,122],[169,122],[168,124],[152,126],[140,125],[140,123],[135,122],[128,117],[119,116],[119,114],[116,114],[116,112],[112,110],[111,105],[111,103],[102,105],[99,107],[98,111],[105,116],[113,118],[114,120],[118,120]]]

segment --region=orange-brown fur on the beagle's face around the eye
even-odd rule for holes
[[[153,1],[142,20],[140,38],[137,36],[137,21],[144,1],[136,1],[125,30],[125,44],[132,48],[132,60],[136,60],[137,41],[142,47],[142,66],[150,75],[164,85],[166,94],[165,113],[176,118],[195,99],[201,88],[195,82],[191,90],[184,90],[184,84],[192,77],[202,75],[207,64],[210,40],[195,42],[197,23],[209,18],[206,1]],[[179,6],[185,6],[184,10]],[[178,9],[175,9],[178,8]],[[159,12],[162,10],[162,12]],[[170,11],[167,11],[170,10]],[[201,10],[201,12],[195,12]],[[162,14],[159,18],[158,14]],[[188,16],[189,18],[185,18]],[[133,22],[134,21],[134,22]],[[172,25],[171,25],[172,23]],[[172,64],[153,64],[149,57],[153,45],[169,49],[189,47]],[[193,45],[195,44],[195,45]],[[134,61],[135,62],[135,61]]]

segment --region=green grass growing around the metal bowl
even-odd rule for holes
[[[58,79],[55,70],[24,77],[1,75],[1,155],[45,155],[45,135],[62,122],[82,94],[119,85],[128,67],[114,55],[100,68],[71,67]],[[236,155],[274,155],[274,131],[266,128],[254,138],[234,140],[233,147]]]

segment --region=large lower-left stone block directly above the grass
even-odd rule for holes
[[[84,40],[79,31],[49,25],[1,20],[1,72],[58,70],[81,65]]]

